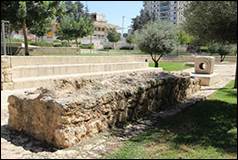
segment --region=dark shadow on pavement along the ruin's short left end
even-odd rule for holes
[[[12,130],[8,125],[1,126],[1,138],[11,142],[16,146],[22,146],[25,150],[31,152],[55,152],[58,149],[47,143],[41,142],[32,136],[26,135],[22,132]]]

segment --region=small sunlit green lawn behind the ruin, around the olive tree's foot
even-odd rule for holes
[[[149,63],[149,67],[154,67],[154,63]],[[162,67],[165,71],[181,71],[192,66],[183,62],[159,62],[159,67]]]

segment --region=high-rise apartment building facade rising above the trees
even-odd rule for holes
[[[161,20],[170,20],[174,24],[183,22],[183,10],[188,1],[144,1],[144,10],[155,14]]]

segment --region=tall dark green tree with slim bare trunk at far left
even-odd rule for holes
[[[54,1],[1,1],[1,17],[10,21],[13,30],[23,30],[25,55],[29,55],[27,31],[53,18],[58,4]]]

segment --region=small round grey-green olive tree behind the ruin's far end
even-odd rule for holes
[[[150,22],[135,32],[135,39],[140,50],[149,53],[158,67],[161,57],[171,53],[176,45],[176,27],[168,21]]]

